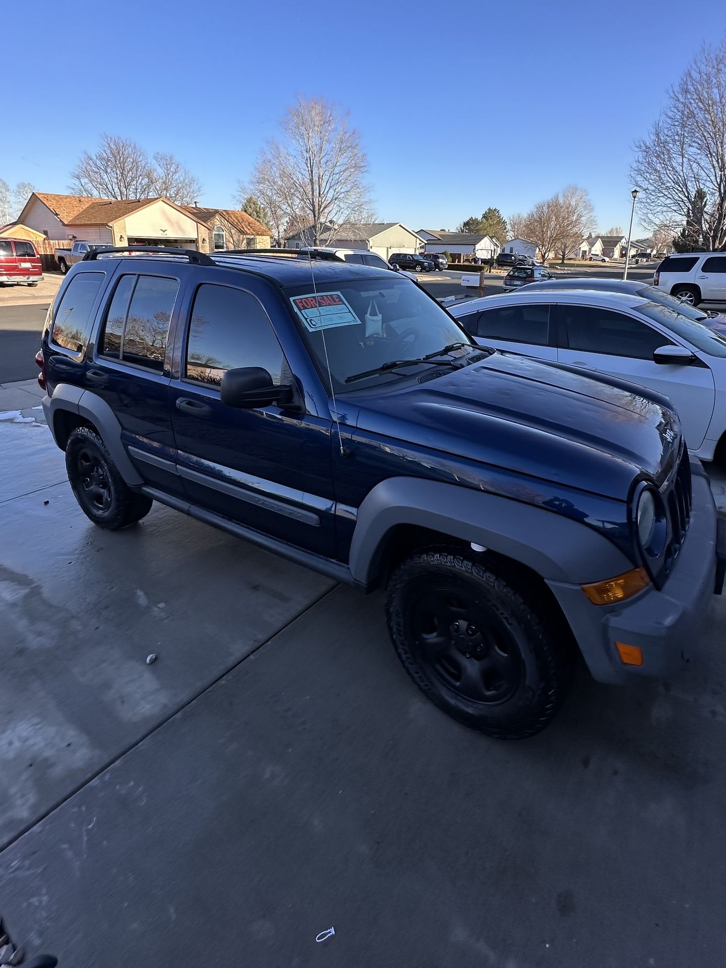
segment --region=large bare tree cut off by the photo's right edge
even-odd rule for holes
[[[726,40],[704,45],[670,89],[631,168],[645,224],[675,233],[698,214],[701,244],[726,246]],[[702,195],[701,193],[705,193]],[[705,203],[700,199],[705,198]]]

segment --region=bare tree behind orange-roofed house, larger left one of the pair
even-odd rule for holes
[[[128,138],[103,135],[98,151],[84,151],[72,172],[77,195],[99,198],[149,198],[154,169],[143,148]]]

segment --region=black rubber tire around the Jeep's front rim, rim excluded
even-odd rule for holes
[[[491,616],[486,634],[493,642],[489,629],[496,628],[496,635],[506,643],[505,661],[518,650],[520,681],[517,684],[517,677],[512,677],[510,695],[502,692],[503,698],[496,702],[476,702],[457,692],[425,657],[414,632],[419,620],[414,616],[433,607],[421,603],[431,602],[441,589],[460,590],[463,599],[476,603],[479,615],[483,611]],[[388,630],[410,678],[439,709],[500,740],[524,740],[543,730],[559,710],[572,680],[571,640],[557,634],[544,609],[541,615],[535,609],[496,571],[456,549],[417,552],[394,571],[386,593]],[[470,669],[471,657],[464,661]]]

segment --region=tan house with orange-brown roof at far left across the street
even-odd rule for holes
[[[224,213],[224,214],[223,214]],[[119,200],[75,195],[50,195],[33,192],[18,216],[18,222],[40,231],[45,238],[58,241],[101,242],[106,245],[176,246],[214,252],[221,238],[215,230],[227,226],[230,216],[235,224],[246,227],[244,234],[235,235],[227,249],[267,248],[271,234],[245,212],[227,209],[198,209],[177,205],[168,198],[140,198]],[[244,219],[239,217],[244,216]],[[249,221],[248,221],[249,220]],[[254,238],[254,243],[241,238]]]

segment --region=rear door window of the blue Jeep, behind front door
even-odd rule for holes
[[[166,276],[122,276],[108,307],[101,354],[162,373],[178,288],[178,280]]]

